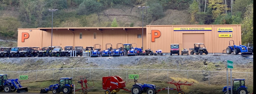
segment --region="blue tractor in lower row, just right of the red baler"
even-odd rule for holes
[[[142,92],[150,93],[150,94],[155,94],[156,93],[156,88],[154,84],[141,84],[137,82],[137,79],[134,77],[134,84],[131,87],[131,93],[132,94],[141,94]]]

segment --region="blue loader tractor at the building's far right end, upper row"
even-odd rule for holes
[[[233,41],[233,45],[230,45],[230,41]],[[234,54],[238,54],[239,52],[241,52],[242,56],[248,56],[252,54],[252,52],[248,51],[245,45],[234,45],[234,40],[229,40],[229,46],[226,47],[226,53],[230,54],[231,52],[233,52]]]

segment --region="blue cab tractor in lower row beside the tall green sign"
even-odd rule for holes
[[[247,87],[245,86],[245,79],[243,78],[234,78],[232,84],[232,94],[248,94]],[[230,94],[231,86],[228,86],[228,93]],[[226,86],[222,88],[224,94],[227,93]]]

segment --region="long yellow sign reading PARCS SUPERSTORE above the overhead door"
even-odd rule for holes
[[[173,28],[173,31],[211,31],[211,28],[196,27],[196,28]]]

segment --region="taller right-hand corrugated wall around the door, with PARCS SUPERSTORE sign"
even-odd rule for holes
[[[208,52],[221,53],[229,44],[229,40],[234,40],[234,44],[239,44],[241,41],[241,26],[240,25],[147,25],[147,42],[146,46],[153,51],[162,49],[163,52],[170,51],[170,44],[179,43],[182,46],[183,33],[204,33],[204,45]],[[211,31],[173,31],[173,28],[212,28]],[[232,27],[232,32],[218,32],[218,27]],[[161,36],[155,38],[155,42],[151,42],[151,30],[159,30]],[[231,33],[232,37],[218,37],[220,33]]]

